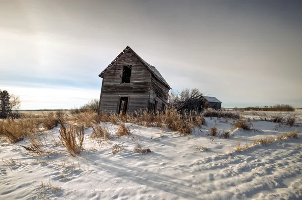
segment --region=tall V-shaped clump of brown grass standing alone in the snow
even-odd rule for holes
[[[68,152],[74,156],[75,154],[80,154],[83,151],[83,142],[85,139],[84,125],[70,126],[65,125],[60,121],[59,129],[59,139],[63,146],[65,146]]]

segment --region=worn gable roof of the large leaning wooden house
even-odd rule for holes
[[[139,61],[147,68],[147,70],[152,73],[160,82],[162,82],[167,88],[172,89],[170,85],[166,82],[162,74],[155,68],[155,66],[150,65],[146,61],[144,61],[133,49],[131,49],[129,46],[126,46],[126,48],[118,54],[118,56],[104,69],[100,74],[99,77],[103,78],[104,74],[128,51],[132,51],[132,53],[139,59]]]

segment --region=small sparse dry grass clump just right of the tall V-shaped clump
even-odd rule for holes
[[[108,141],[112,139],[112,136],[109,134],[105,126],[101,127],[100,125],[95,125],[96,128],[92,126],[93,132],[90,135],[90,138],[93,139],[96,143],[99,144],[99,147],[102,148],[103,145],[107,145]]]

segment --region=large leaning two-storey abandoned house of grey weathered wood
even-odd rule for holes
[[[127,46],[99,77],[103,78],[99,112],[162,111],[171,87],[152,65]]]

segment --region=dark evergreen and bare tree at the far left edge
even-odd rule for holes
[[[0,90],[0,118],[18,115],[21,102],[19,96],[9,94],[7,90]]]

